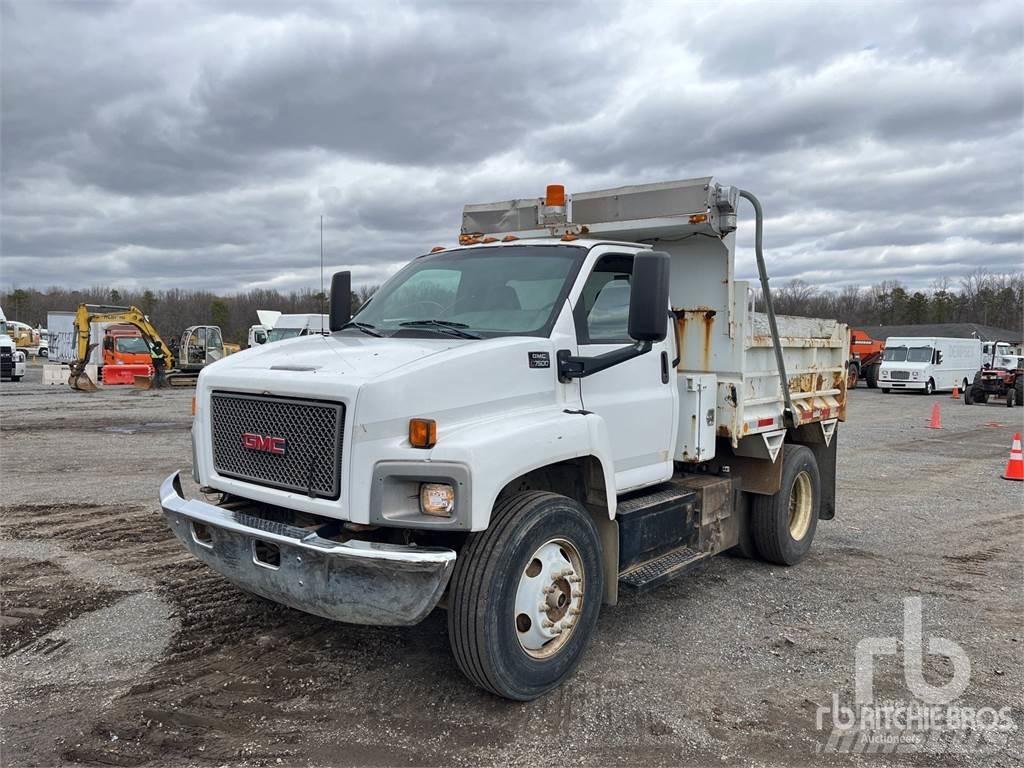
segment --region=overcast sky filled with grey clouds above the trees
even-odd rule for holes
[[[317,287],[322,215],[376,283],[467,202],[709,174],[776,281],[1024,268],[1019,0],[14,0],[0,42],[3,288]]]

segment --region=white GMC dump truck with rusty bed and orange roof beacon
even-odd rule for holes
[[[835,515],[845,326],[754,311],[740,199],[712,178],[467,206],[331,333],[199,379],[198,558],[321,616],[447,611],[460,669],[512,699],[575,668],[602,605],[736,549],[805,557]],[[666,670],[666,672],[671,672]]]

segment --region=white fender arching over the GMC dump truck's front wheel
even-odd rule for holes
[[[615,475],[604,420],[596,414],[546,408],[487,419],[438,435],[431,461],[472,466],[472,530],[487,527],[495,500],[516,477],[549,464],[593,456],[604,475],[608,517],[615,514]]]

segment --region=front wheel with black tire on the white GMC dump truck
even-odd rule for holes
[[[604,594],[601,541],[564,496],[516,494],[459,552],[449,593],[449,640],[476,685],[528,701],[575,670]]]

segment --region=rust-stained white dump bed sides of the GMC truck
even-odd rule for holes
[[[730,322],[708,307],[677,308],[676,324],[679,371],[717,376],[716,432],[735,447],[744,437],[783,429],[785,401],[767,315],[740,300],[731,314]],[[844,420],[847,327],[791,315],[778,315],[777,324],[798,425]]]

